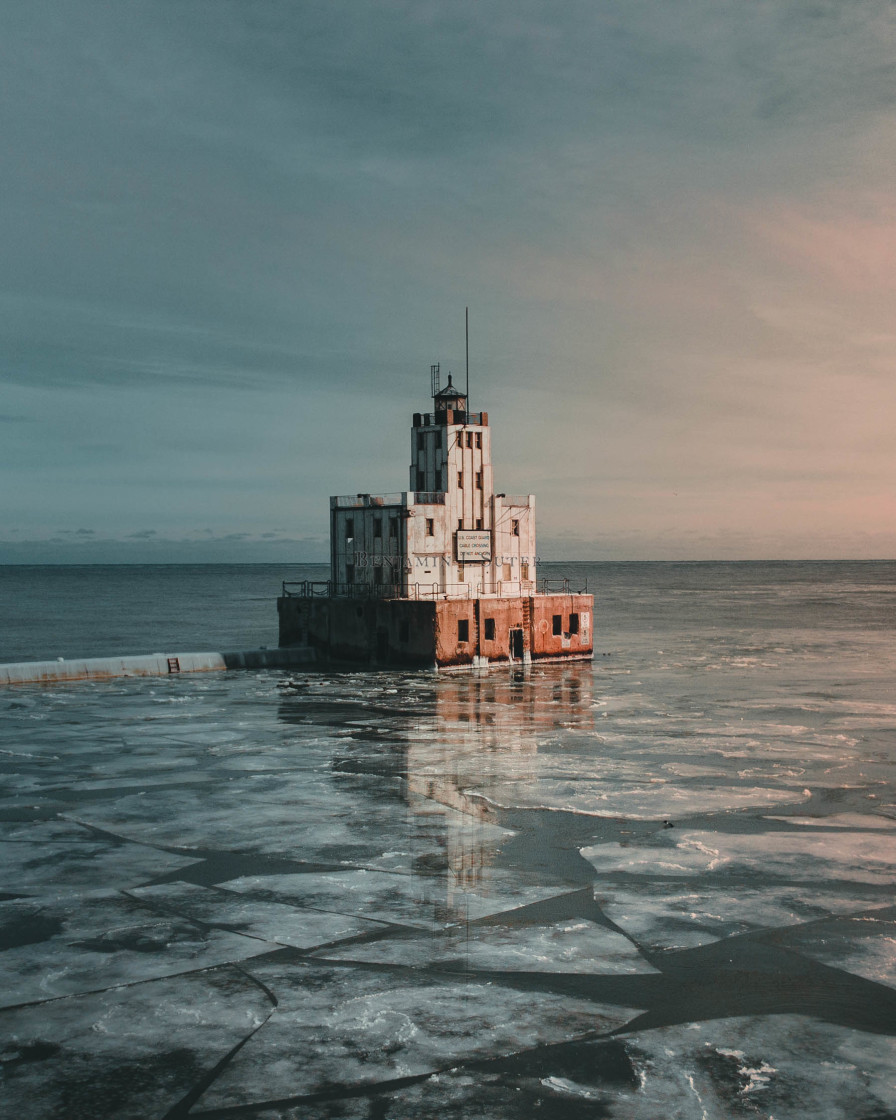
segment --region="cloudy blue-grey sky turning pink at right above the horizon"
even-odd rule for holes
[[[429,367],[539,554],[896,557],[890,0],[2,0],[0,562],[326,559]]]

